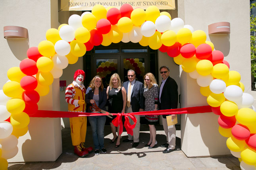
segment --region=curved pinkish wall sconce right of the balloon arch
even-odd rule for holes
[[[230,23],[219,22],[208,25],[209,34],[230,34]]]

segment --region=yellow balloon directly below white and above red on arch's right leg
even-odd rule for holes
[[[231,117],[237,114],[238,106],[235,102],[227,100],[220,105],[220,111],[223,115]]]

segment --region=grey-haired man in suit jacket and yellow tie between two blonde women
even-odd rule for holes
[[[127,104],[125,108],[125,113],[132,113],[144,110],[144,85],[140,81],[135,79],[136,74],[134,70],[128,70],[127,77],[129,81],[125,81],[123,83],[123,87],[126,90],[127,94]],[[128,138],[123,140],[123,142],[133,141],[133,147],[137,147],[139,145],[139,135],[140,135],[140,115],[135,115],[137,119],[137,123],[135,128],[133,129],[133,136],[128,134]],[[131,125],[133,125],[133,121],[129,119]]]

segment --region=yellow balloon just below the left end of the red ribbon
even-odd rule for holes
[[[10,122],[15,128],[25,128],[29,125],[29,115],[25,112],[21,112],[18,114],[12,114],[10,116]]]

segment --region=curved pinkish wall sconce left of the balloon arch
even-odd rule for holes
[[[27,28],[21,26],[4,26],[4,38],[27,38]]]

